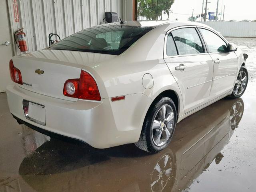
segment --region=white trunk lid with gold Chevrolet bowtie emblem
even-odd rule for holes
[[[77,98],[63,95],[66,80],[80,78],[84,66],[92,67],[114,57],[89,52],[40,50],[15,56],[12,60],[22,75],[23,85],[18,86],[46,96],[76,101]]]

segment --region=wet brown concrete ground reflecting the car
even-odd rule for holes
[[[2,93],[0,192],[256,191],[255,97],[252,75],[242,98],[182,120],[169,147],[148,154],[134,144],[97,150],[18,125]]]

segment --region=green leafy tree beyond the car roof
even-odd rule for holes
[[[164,14],[170,15],[170,8],[174,0],[137,0],[137,14],[146,17],[149,20],[158,20],[158,17]]]

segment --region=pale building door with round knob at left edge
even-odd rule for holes
[[[6,91],[6,86],[11,83],[9,61],[12,58],[12,40],[7,12],[7,1],[0,1],[0,92]]]

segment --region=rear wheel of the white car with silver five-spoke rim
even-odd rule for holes
[[[164,108],[166,109],[165,118],[163,118]],[[160,98],[154,102],[148,110],[143,123],[140,139],[135,145],[147,152],[155,153],[163,150],[170,144],[175,131],[176,122],[177,111],[174,102],[168,97]]]

